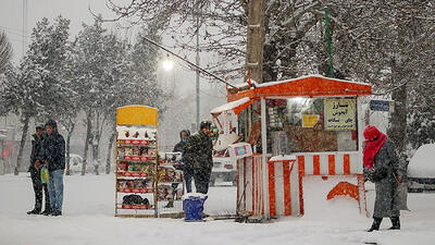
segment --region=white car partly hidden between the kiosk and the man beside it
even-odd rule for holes
[[[211,170],[210,186],[236,185],[236,162],[229,157],[213,157],[213,169]]]

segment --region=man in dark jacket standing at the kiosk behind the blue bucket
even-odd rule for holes
[[[197,193],[209,192],[209,181],[213,168],[213,144],[210,138],[210,121],[203,121],[200,131],[187,139],[185,157],[194,169]]]

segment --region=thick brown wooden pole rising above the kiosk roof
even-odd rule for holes
[[[248,11],[246,71],[253,81],[263,83],[264,0],[250,0]]]

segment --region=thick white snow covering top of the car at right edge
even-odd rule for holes
[[[435,144],[421,146],[408,166],[408,176],[435,177]]]

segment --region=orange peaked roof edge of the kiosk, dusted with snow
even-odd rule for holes
[[[233,93],[232,93],[233,91]],[[320,97],[320,96],[363,96],[371,95],[372,86],[364,83],[336,79],[321,75],[301,76],[294,79],[270,82],[248,90],[228,89],[228,101],[244,97]]]

